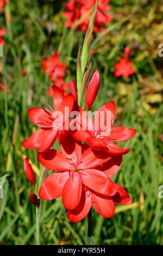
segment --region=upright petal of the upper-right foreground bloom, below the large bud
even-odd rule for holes
[[[116,114],[116,106],[115,103],[113,101],[109,101],[107,102],[104,106],[102,106],[101,108],[98,109],[98,111],[95,114],[95,117],[93,118],[93,125],[96,129],[96,126],[98,127],[100,124],[100,112],[101,111],[105,111],[105,112],[110,112],[110,120],[106,120],[106,117],[108,117],[107,114],[104,115],[105,119],[103,120],[103,123],[107,123],[108,125],[112,126],[112,124],[114,123],[114,119],[115,119],[115,114]]]

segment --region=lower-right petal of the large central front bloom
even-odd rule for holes
[[[108,175],[100,170],[87,169],[80,172],[83,184],[91,190],[112,196],[116,193],[116,187]]]

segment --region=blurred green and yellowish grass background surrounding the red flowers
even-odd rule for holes
[[[95,244],[160,245],[163,244],[163,199],[159,199],[162,173],[162,60],[158,45],[163,42],[162,1],[111,0],[114,20],[102,33],[93,35],[93,67],[101,74],[101,88],[93,109],[105,102],[117,103],[116,124],[137,129],[136,136],[123,147],[120,170],[113,180],[124,186],[133,203],[117,206],[114,217],[104,219],[93,211]],[[76,78],[79,45],[84,33],[64,28],[62,1],[8,1],[0,16],[6,27],[4,57],[0,59],[3,82],[11,92],[0,93],[0,182],[4,199],[0,199],[0,244],[34,245],[35,206],[29,202],[32,187],[24,175],[23,157],[34,164],[37,180],[41,166],[36,151],[21,147],[21,142],[35,131],[28,119],[29,107],[44,106],[39,99],[50,86],[41,70],[41,59],[54,48],[68,64],[70,78]],[[11,18],[11,22],[10,22]],[[136,74],[123,80],[114,77],[114,63],[124,46],[132,48]],[[21,58],[23,56],[23,62]],[[21,70],[27,76],[21,76]],[[5,175],[5,176],[4,176]],[[1,178],[3,176],[3,178]],[[83,245],[87,242],[87,220],[73,224],[66,219],[61,200],[43,202],[41,214],[42,245]]]

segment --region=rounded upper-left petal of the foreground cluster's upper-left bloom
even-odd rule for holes
[[[28,116],[33,124],[44,127],[50,128],[53,124],[52,112],[46,108],[30,108],[28,111]]]

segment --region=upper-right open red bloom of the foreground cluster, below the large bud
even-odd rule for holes
[[[114,142],[123,142],[134,137],[136,130],[123,126],[113,127],[116,106],[113,101],[109,101],[101,107],[95,114],[93,121],[89,115],[79,107],[80,115],[76,117],[75,121],[71,120],[71,135],[78,141],[87,142],[93,150],[102,150],[108,152],[110,155],[124,155],[127,154],[129,148],[123,149]],[[72,126],[76,126],[73,130]]]

